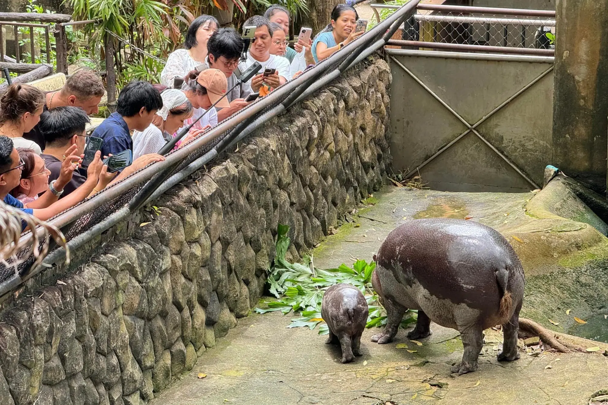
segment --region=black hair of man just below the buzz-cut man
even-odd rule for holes
[[[75,134],[80,135],[89,123],[89,116],[78,107],[61,106],[49,109],[40,117],[40,133],[47,145],[60,147]]]

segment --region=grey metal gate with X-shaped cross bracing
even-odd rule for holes
[[[386,49],[393,171],[434,190],[523,192],[551,159],[553,57]]]

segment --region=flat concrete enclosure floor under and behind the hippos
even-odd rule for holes
[[[355,223],[340,227],[314,251],[319,267],[370,260],[397,224],[424,216],[474,217],[497,227],[517,221],[525,194],[441,193],[387,187],[374,196]],[[503,215],[508,213],[509,215]],[[405,218],[405,219],[404,219]],[[508,218],[508,220],[505,220]],[[341,364],[339,347],[307,328],[287,329],[291,315],[252,314],[207,349],[192,372],[160,393],[151,405],[402,405],[442,404],[587,404],[590,395],[608,388],[608,357],[599,353],[561,355],[522,352],[514,362],[497,362],[502,336],[486,331],[486,345],[475,373],[454,377],[450,365],[462,355],[454,330],[433,324],[423,346],[399,331],[392,344],[370,342],[377,330],[366,330],[364,355]],[[406,348],[396,348],[406,343]],[[596,345],[582,342],[582,345]],[[601,347],[606,345],[597,344]],[[604,347],[603,347],[604,349]],[[550,367],[549,367],[550,366]],[[198,373],[206,374],[199,379]]]

